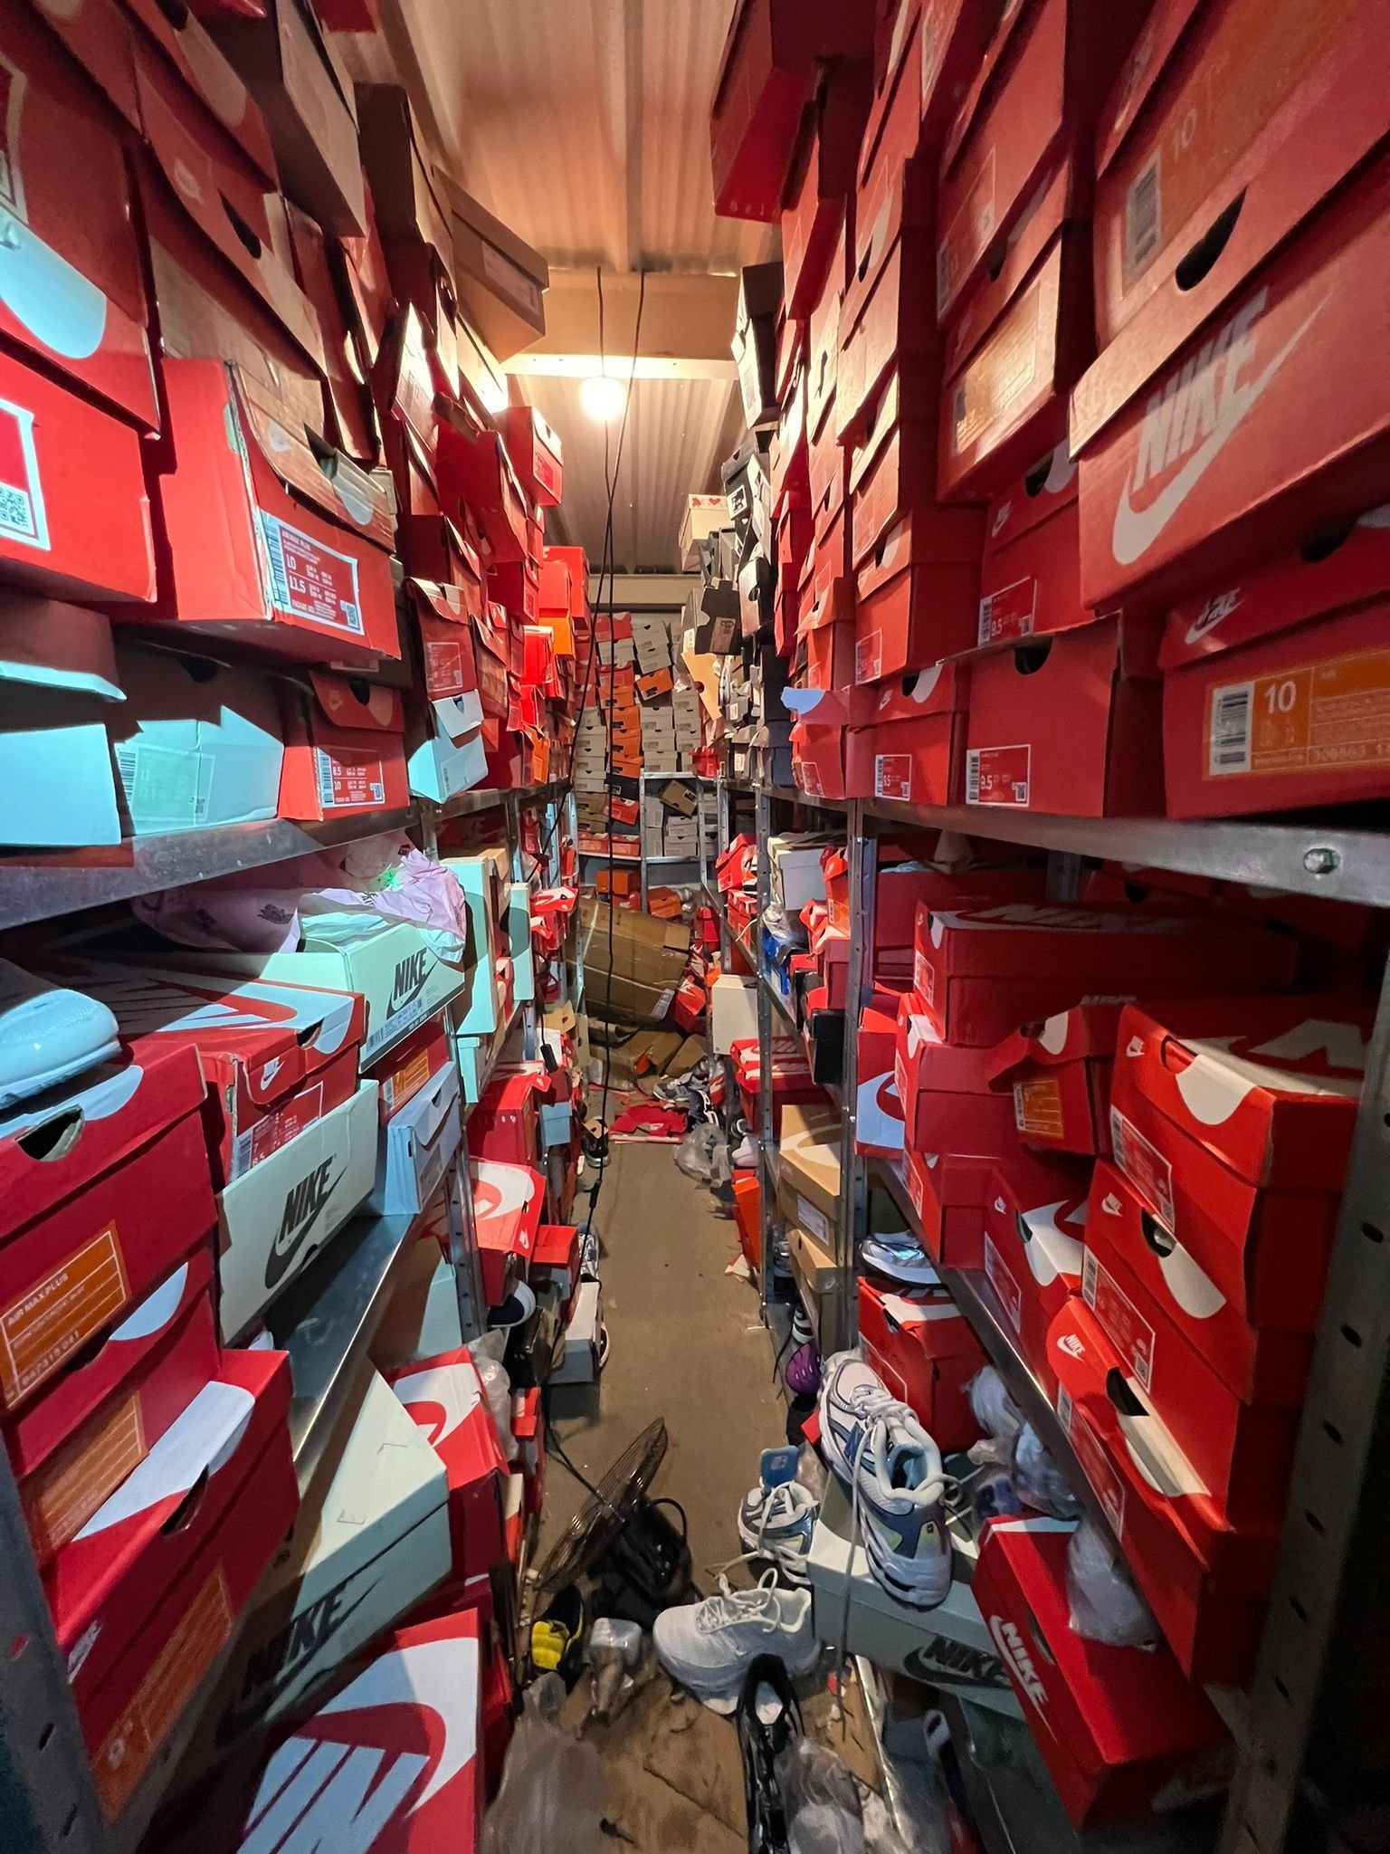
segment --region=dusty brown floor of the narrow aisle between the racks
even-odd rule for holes
[[[697,1583],[739,1550],[738,1504],[758,1478],[760,1450],[786,1441],[786,1403],[773,1379],[756,1289],[725,1274],[738,1253],[730,1218],[675,1164],[671,1146],[613,1144],[595,1225],[604,1240],[604,1318],[612,1350],[597,1396],[552,1390],[562,1446],[593,1479],[654,1416],[669,1448],[654,1492],[678,1500],[689,1520]],[[584,1491],[550,1461],[537,1557],[573,1517]],[[738,1567],[734,1583],[751,1581]],[[588,1709],[586,1682],[567,1722]],[[866,1778],[873,1754],[856,1730],[825,1724],[827,1695],[804,1702],[806,1724]],[[649,1667],[612,1726],[593,1726],[608,1784],[608,1817],[649,1854],[743,1854],[743,1776],[732,1721],[673,1695]],[[619,1843],[613,1843],[615,1847]]]

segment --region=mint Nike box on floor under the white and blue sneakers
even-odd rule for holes
[[[830,1476],[821,1513],[812,1533],[806,1563],[815,1633],[838,1643],[845,1632],[845,1652],[862,1654],[877,1667],[895,1667],[912,1680],[947,1687],[979,1706],[1021,1719],[1021,1708],[1008,1685],[990,1628],[969,1583],[956,1578],[945,1602],[934,1609],[912,1609],[877,1581],[862,1544],[849,1548],[849,1496]],[[845,1572],[849,1572],[849,1622],[845,1624]]]

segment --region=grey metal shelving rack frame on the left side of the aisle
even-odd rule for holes
[[[447,805],[421,803],[406,810],[326,825],[278,819],[145,838],[128,845],[119,860],[6,858],[0,929],[269,866],[310,849],[360,842],[382,831],[419,832],[421,842],[434,849],[439,823],[489,810],[504,814],[513,877],[523,879],[519,827],[521,812],[532,805],[547,808],[547,842],[552,845],[547,879],[550,879],[558,871],[562,814],[571,840],[575,832],[573,795],[554,784],[512,792],[465,792]],[[565,959],[565,970],[567,964]],[[534,1051],[537,1009],[524,1005],[499,1031],[487,1066],[497,1062],[517,1016],[524,1018],[526,1044]],[[467,1177],[465,1109],[463,1138],[445,1188],[460,1329],[471,1337],[482,1329],[484,1300]],[[289,1435],[300,1487],[308,1487],[313,1479],[391,1300],[402,1263],[421,1229],[423,1218],[374,1214],[352,1218],[267,1313],[267,1327],[289,1352],[291,1361]],[[4,1450],[0,1450],[0,1567],[4,1568],[0,1643],[7,1644],[0,1648],[0,1848],[6,1854],[11,1848],[15,1854],[133,1854],[165,1798],[202,1708],[217,1687],[226,1656],[232,1652],[235,1624],[232,1641],[224,1644],[182,1709],[178,1724],[120,1817],[107,1822],[96,1798],[48,1600],[33,1563],[19,1487]]]

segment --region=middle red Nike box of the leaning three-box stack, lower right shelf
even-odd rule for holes
[[[1093,1242],[1092,1224],[1097,1231]],[[1266,1333],[1251,1327],[1238,1333],[1244,1322],[1229,1302],[1221,1296],[1205,1303],[1195,1298],[1205,1283],[1201,1268],[1192,1264],[1182,1276],[1177,1246],[1160,1253],[1145,1235],[1162,1250],[1166,1231],[1153,1218],[1145,1224],[1140,1198],[1114,1166],[1103,1162],[1092,1188],[1082,1298],[1231,1522],[1273,1526],[1283,1517],[1288,1492],[1305,1383],[1297,1366],[1307,1372],[1307,1337],[1266,1329],[1271,1344],[1260,1348]],[[1181,1326],[1168,1318],[1129,1266],[1125,1257],[1136,1248],[1147,1250],[1145,1272],[1160,1276],[1169,1303],[1179,1285],[1192,1290],[1192,1311],[1184,1311]],[[1194,1331],[1205,1342],[1194,1342]],[[1257,1402],[1225,1381],[1212,1348],[1227,1335],[1244,1353],[1247,1370],[1257,1357],[1262,1359],[1264,1387],[1273,1389],[1275,1398]]]

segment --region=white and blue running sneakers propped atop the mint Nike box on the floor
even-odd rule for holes
[[[821,1448],[851,1494],[854,1530],[878,1583],[914,1609],[951,1591],[941,1452],[856,1352],[825,1363]]]

